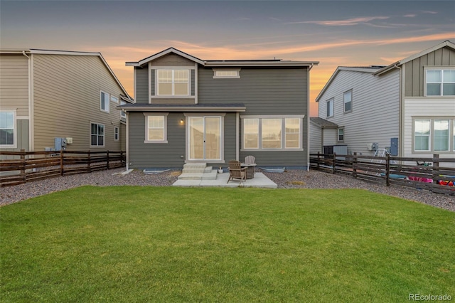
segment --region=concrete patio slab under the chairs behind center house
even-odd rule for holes
[[[218,174],[216,180],[177,180],[172,186],[183,187],[262,187],[262,188],[277,188],[274,181],[267,178],[262,173],[255,173],[255,178],[248,179],[240,184],[238,180],[229,181],[229,173]]]

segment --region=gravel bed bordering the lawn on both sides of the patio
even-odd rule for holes
[[[142,171],[134,170],[126,175],[120,174],[124,170],[124,168],[121,168],[96,171],[90,174],[75,174],[28,182],[17,186],[5,186],[0,188],[0,206],[83,185],[171,186],[177,181],[178,175],[181,174],[180,170],[166,171],[163,174],[144,174]],[[282,174],[265,172],[264,174],[274,181],[279,188],[363,188],[375,193],[383,193],[455,211],[455,196],[432,193],[415,188],[403,186],[387,187],[385,184],[362,181],[351,176],[333,175],[314,170],[289,170]]]

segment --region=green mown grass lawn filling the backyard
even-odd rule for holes
[[[455,213],[363,190],[84,186],[0,216],[1,302],[455,299]]]

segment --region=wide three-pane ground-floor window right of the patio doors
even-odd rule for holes
[[[300,150],[302,116],[242,117],[242,148]]]

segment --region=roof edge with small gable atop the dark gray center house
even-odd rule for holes
[[[127,66],[142,66],[146,63],[149,63],[151,60],[155,60],[157,58],[163,57],[164,55],[168,55],[169,53],[175,53],[176,55],[181,55],[183,58],[187,58],[188,60],[192,60],[200,65],[203,65],[208,68],[215,68],[215,67],[242,67],[242,66],[312,66],[318,65],[319,61],[286,61],[280,59],[273,59],[273,60],[201,60],[199,58],[194,57],[193,55],[188,55],[181,50],[176,48],[167,48],[166,50],[162,50],[159,53],[151,55],[147,58],[139,60],[137,62],[126,62]]]

